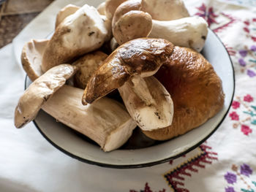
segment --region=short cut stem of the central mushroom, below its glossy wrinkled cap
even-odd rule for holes
[[[118,88],[129,115],[144,131],[170,126],[173,101],[165,87],[153,76],[139,75]]]

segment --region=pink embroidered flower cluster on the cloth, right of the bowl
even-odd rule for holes
[[[252,125],[256,125],[256,106],[251,104],[253,101],[254,98],[249,94],[244,96],[243,99],[236,96],[236,100],[234,100],[232,103],[233,110],[229,114],[231,120],[236,121],[236,123],[233,123],[233,128],[238,128],[238,126],[241,126],[241,132],[243,132],[246,136],[252,133],[252,128],[250,128],[248,122]],[[246,118],[240,120],[238,111],[246,114]]]

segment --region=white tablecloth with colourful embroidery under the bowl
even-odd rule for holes
[[[54,1],[0,50],[0,191],[256,191],[256,1],[185,1],[190,14],[205,18],[226,46],[236,73],[235,97],[225,121],[203,145],[141,169],[84,164],[50,145],[33,123],[20,130],[13,125],[25,77],[21,48],[53,31],[56,12],[70,2]],[[97,4],[72,1],[85,2]]]

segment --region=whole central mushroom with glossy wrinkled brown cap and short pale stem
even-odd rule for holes
[[[169,126],[173,117],[170,94],[152,76],[168,62],[173,45],[165,39],[135,39],[118,47],[91,76],[83,104],[118,88],[129,114],[143,130]],[[148,77],[143,80],[143,77]],[[151,120],[148,120],[151,118]]]

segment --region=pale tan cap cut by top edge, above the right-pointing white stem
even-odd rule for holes
[[[143,0],[142,10],[154,20],[176,20],[189,17],[182,0]]]

